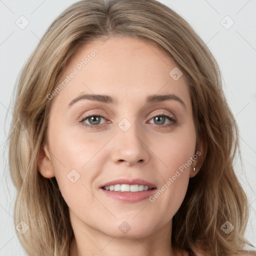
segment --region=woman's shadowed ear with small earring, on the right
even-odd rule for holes
[[[201,124],[201,129],[203,130],[203,134],[205,134],[205,132],[204,132],[205,128],[204,128],[203,124]],[[206,138],[204,136],[198,137],[197,141],[196,141],[196,145],[195,145],[195,151],[194,151],[194,154],[196,154],[198,157],[193,162],[193,164],[191,164],[191,169],[190,169],[190,174],[189,174],[190,178],[194,177],[199,172],[199,170],[204,162],[204,159],[205,159],[205,156],[207,153],[207,148],[208,148],[208,145],[207,145]],[[193,171],[194,167],[195,167],[195,171]]]

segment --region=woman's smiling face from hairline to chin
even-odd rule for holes
[[[38,168],[56,177],[72,225],[137,238],[171,227],[200,152],[188,87],[170,58],[132,37],[96,40],[47,97]],[[112,181],[122,191],[106,190]]]

